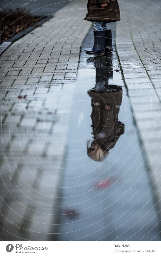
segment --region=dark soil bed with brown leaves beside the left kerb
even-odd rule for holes
[[[44,18],[34,17],[25,9],[0,11],[0,17],[1,43]]]

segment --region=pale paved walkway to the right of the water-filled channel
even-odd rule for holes
[[[160,8],[159,0],[120,2],[121,22],[116,30],[117,52],[142,142],[140,154],[147,160],[156,203],[161,198]]]

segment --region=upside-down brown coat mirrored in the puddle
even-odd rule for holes
[[[113,86],[114,87],[114,86]],[[92,98],[92,127],[94,139],[97,140],[103,150],[113,148],[116,141],[124,133],[125,126],[118,121],[119,106],[122,103],[122,89],[106,93],[88,91]],[[105,110],[105,105],[111,106],[111,110]]]

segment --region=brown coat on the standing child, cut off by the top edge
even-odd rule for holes
[[[108,3],[101,8],[100,4]],[[120,10],[117,0],[88,0],[86,17],[87,21],[120,21]]]

